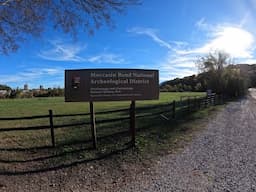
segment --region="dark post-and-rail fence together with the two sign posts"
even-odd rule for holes
[[[221,95],[212,94],[207,97],[188,97],[186,100],[173,101],[171,103],[146,106],[146,107],[137,107],[135,106],[135,101],[131,101],[130,107],[125,109],[118,110],[109,110],[95,112],[93,107],[93,102],[90,102],[90,113],[78,113],[78,114],[63,114],[63,115],[54,115],[52,110],[49,110],[48,115],[37,115],[30,117],[0,117],[0,121],[16,121],[16,120],[33,120],[33,119],[49,119],[49,125],[39,125],[39,126],[30,126],[30,127],[15,127],[15,128],[3,128],[0,127],[1,132],[15,132],[15,131],[36,131],[36,130],[49,130],[51,135],[51,146],[55,147],[55,129],[74,127],[74,126],[91,126],[91,137],[93,148],[97,147],[97,135],[96,135],[96,123],[111,123],[117,121],[129,120],[129,132],[131,136],[131,144],[135,146],[135,135],[136,135],[136,119],[154,117],[163,114],[168,114],[169,117],[163,115],[162,117],[165,120],[177,119],[178,112],[182,114],[191,113],[202,108],[206,108],[211,105],[223,104],[223,97]],[[152,112],[153,111],[153,112]],[[121,118],[112,118],[112,119],[103,119],[96,121],[95,115],[97,114],[112,114],[119,112],[128,112],[128,116]],[[137,113],[137,114],[136,114]],[[142,113],[142,114],[141,114]],[[75,117],[75,116],[88,116],[89,121],[79,122],[79,123],[70,123],[70,124],[61,124],[55,125],[54,118],[56,117]]]

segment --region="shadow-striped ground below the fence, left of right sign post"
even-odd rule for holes
[[[109,131],[100,130],[99,133],[97,150],[93,149],[92,141],[89,139],[63,141],[56,147],[1,148],[0,175],[23,175],[59,170],[101,160],[132,147],[128,130],[110,135],[104,135]]]

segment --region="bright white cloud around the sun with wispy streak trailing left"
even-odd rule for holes
[[[256,63],[255,37],[243,28],[247,18],[248,15],[245,15],[240,25],[212,25],[208,24],[205,18],[200,19],[195,23],[202,38],[201,42],[197,42],[197,46],[182,41],[167,42],[152,28],[136,27],[128,32],[149,36],[159,46],[166,48],[166,57],[155,65],[160,70],[160,81],[164,81],[196,74],[198,69],[195,63],[198,57],[214,51],[225,51],[240,63]],[[198,46],[200,44],[201,46]]]

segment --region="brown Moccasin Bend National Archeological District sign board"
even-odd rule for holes
[[[125,101],[159,98],[158,70],[80,69],[65,71],[65,101]]]

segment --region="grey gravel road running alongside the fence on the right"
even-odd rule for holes
[[[154,170],[145,183],[138,178],[120,191],[256,191],[256,100],[228,104],[191,145]]]

